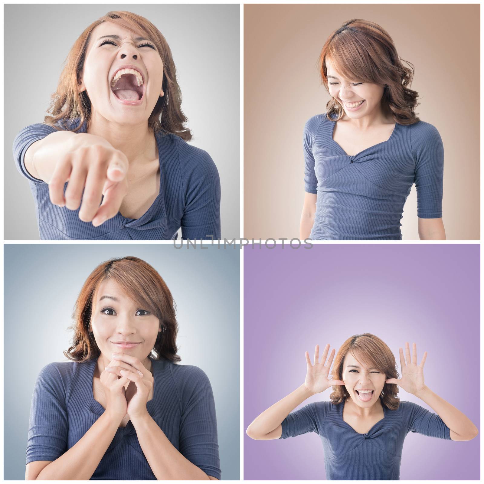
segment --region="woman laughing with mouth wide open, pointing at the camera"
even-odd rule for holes
[[[186,143],[171,51],[146,18],[109,12],[84,30],[48,112],[14,141],[41,239],[220,238],[217,168]]]

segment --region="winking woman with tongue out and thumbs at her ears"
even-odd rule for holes
[[[423,381],[427,353],[417,365],[406,344],[407,362],[400,348],[402,378],[397,378],[390,348],[377,336],[364,333],[348,338],[338,351],[332,379],[328,379],[326,345],[321,362],[316,346],[314,364],[306,351],[304,383],[262,412],[247,428],[252,439],[287,439],[316,432],[323,442],[329,480],[398,480],[403,442],[408,432],[451,440],[470,440],[477,427],[457,408],[432,392]],[[421,398],[437,414],[397,398],[398,386]],[[310,403],[292,410],[306,398],[333,386],[330,402]],[[292,412],[292,413],[289,413]]]

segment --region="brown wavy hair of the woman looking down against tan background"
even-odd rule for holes
[[[347,79],[385,86],[382,107],[395,122],[413,124],[420,121],[414,113],[420,104],[418,92],[407,87],[412,82],[413,64],[398,56],[392,37],[375,22],[353,18],[328,37],[318,64],[322,83],[329,93],[326,60]],[[411,69],[402,62],[411,65]],[[330,121],[338,121],[345,115],[343,106],[333,97],[326,108]]]

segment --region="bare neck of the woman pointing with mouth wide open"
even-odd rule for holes
[[[156,141],[147,121],[141,124],[118,124],[93,111],[87,132],[103,137],[113,148],[122,151],[130,166],[156,157]]]

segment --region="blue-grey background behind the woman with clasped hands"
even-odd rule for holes
[[[82,285],[102,261],[128,255],[151,264],[173,294],[181,364],[212,384],[222,479],[240,479],[240,246],[37,243],[4,244],[4,480],[25,479],[33,386],[47,363],[69,361],[62,351]]]

